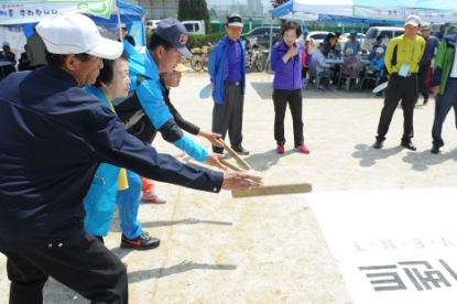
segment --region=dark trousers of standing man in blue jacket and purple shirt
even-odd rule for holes
[[[230,145],[235,150],[242,148],[243,107],[242,83],[240,82],[238,85],[225,83],[224,105],[215,104],[213,108],[213,132],[220,133],[224,140],[228,131]],[[213,145],[213,151],[222,153],[224,149]]]

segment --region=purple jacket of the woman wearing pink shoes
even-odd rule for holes
[[[305,47],[296,43],[300,47],[298,54],[284,63],[282,57],[287,53],[289,46],[282,41],[271,50],[271,68],[274,70],[274,89],[300,89],[302,88],[302,51]],[[311,65],[312,55],[306,56],[306,66]]]

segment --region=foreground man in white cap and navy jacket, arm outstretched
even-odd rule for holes
[[[213,193],[255,185],[246,173],[209,173],[157,154],[79,88],[95,83],[101,58],[122,52],[89,18],[57,15],[36,30],[47,65],[0,83],[0,252],[10,303],[43,303],[48,275],[91,303],[128,303],[126,267],[83,225],[100,163]]]

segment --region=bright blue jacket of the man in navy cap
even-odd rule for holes
[[[128,59],[130,89],[137,90],[138,99],[154,128],[161,132],[164,140],[189,156],[200,162],[206,161],[208,152],[183,133],[163,100],[159,68],[151,53],[145,50],[144,54],[140,54],[128,41],[123,42],[123,48],[130,54]],[[138,75],[146,76],[148,79],[137,87]]]

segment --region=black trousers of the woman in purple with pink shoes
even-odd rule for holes
[[[295,90],[287,89],[274,89],[273,90],[274,102],[274,139],[278,144],[284,145],[284,118],[285,110],[291,108],[292,121],[294,128],[294,146],[302,145],[304,143],[303,138],[303,97],[302,88]]]

